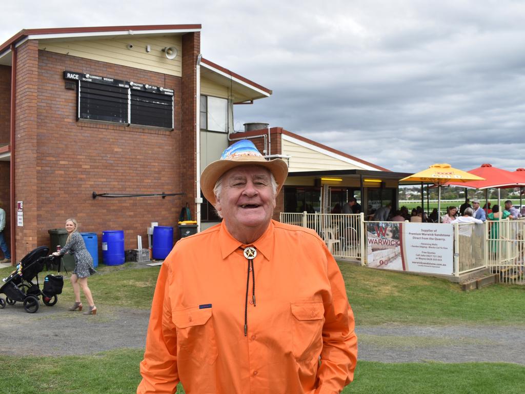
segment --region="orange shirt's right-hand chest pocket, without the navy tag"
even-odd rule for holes
[[[292,314],[292,350],[297,360],[319,357],[323,346],[324,306],[322,301],[290,304]]]

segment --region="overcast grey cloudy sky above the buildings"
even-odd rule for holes
[[[104,0],[3,5],[23,28],[202,24],[203,56],[273,90],[236,106],[393,171],[525,167],[525,2]]]

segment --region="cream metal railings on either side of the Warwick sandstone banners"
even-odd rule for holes
[[[336,258],[366,265],[364,215],[280,213],[282,223],[308,227],[319,234]],[[500,281],[525,284],[525,219],[454,224],[454,274],[490,268]]]

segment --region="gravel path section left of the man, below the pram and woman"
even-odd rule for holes
[[[59,296],[60,297],[60,296]],[[26,313],[22,303],[0,309],[0,355],[83,355],[115,348],[144,348],[150,311],[99,305],[95,316],[40,305]],[[38,344],[36,347],[35,345]]]

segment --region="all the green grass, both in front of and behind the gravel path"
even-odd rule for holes
[[[461,292],[443,279],[339,264],[358,325],[525,324],[525,289],[520,286]],[[0,278],[10,271],[0,269]],[[101,266],[89,283],[98,305],[149,308],[158,272],[158,267],[135,269],[132,264]],[[72,299],[66,283],[59,302]],[[0,392],[133,393],[142,355],[142,350],[118,349],[91,356],[0,356]],[[359,361],[355,380],[343,393],[511,394],[523,391],[523,376],[525,367],[514,364]]]

